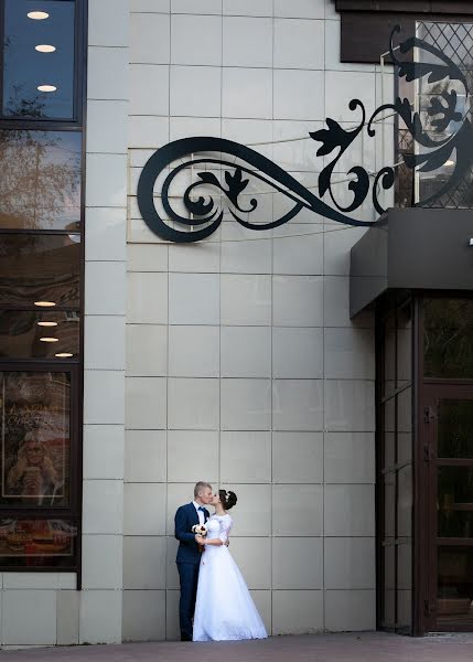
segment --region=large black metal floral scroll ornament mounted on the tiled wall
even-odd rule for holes
[[[443,185],[417,205],[430,205],[434,199],[442,196],[462,179],[473,162],[472,125],[469,113],[459,109],[459,97],[467,99],[470,96],[469,82],[462,70],[442,51],[417,36],[395,47],[394,38],[399,32],[400,28],[396,26],[389,44],[398,76],[405,77],[407,83],[423,79],[432,85],[433,92],[423,113],[415,111],[408,99],[398,97],[367,117],[364,104],[353,99],[350,110],[358,117],[354,128],[344,129],[337,121],[327,118],[326,128],[309,134],[314,142],[320,143],[316,156],[331,158],[325,159],[319,174],[318,194],[267,157],[238,142],[212,137],[170,142],[152,154],[138,183],[138,205],[149,228],[163,239],[190,243],[214,233],[225,213],[246,228],[261,231],[287,223],[302,210],[346,225],[373,225],[376,221],[357,220],[353,212],[367,201],[379,216],[386,211],[383,192],[394,186],[395,164],[385,164],[374,173],[363,166],[351,168],[346,185],[352,200],[345,205],[334,195],[334,173],[342,157],[363,131],[366,131],[367,139],[375,138],[376,118],[386,111],[398,116],[416,145],[415,153],[404,156],[407,168],[412,172],[433,172],[447,162],[454,164]],[[413,49],[423,52],[426,62],[412,62],[409,55]],[[397,52],[406,58],[399,58]],[[456,92],[455,87],[460,87],[461,92]],[[463,108],[466,107],[464,104]],[[447,131],[448,127],[455,130]],[[176,200],[170,192],[171,186],[183,174],[189,178],[190,172],[192,181],[186,188],[180,186],[184,193]],[[269,222],[254,220],[259,202],[247,192],[250,180],[284,197],[286,209],[277,213],[276,218],[270,214]],[[327,199],[329,203],[325,202]],[[158,200],[160,210],[157,209]]]

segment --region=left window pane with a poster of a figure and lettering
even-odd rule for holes
[[[71,375],[1,372],[2,505],[69,504]]]

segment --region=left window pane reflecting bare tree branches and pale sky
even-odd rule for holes
[[[80,229],[76,131],[0,131],[0,227]]]

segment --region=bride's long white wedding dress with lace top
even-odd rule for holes
[[[232,517],[207,520],[207,538],[226,542]],[[206,545],[198,570],[194,613],[194,641],[265,639],[265,624],[249,595],[245,579],[225,545]]]

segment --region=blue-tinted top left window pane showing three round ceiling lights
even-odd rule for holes
[[[4,0],[4,117],[74,118],[72,0]]]

